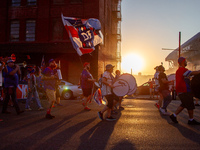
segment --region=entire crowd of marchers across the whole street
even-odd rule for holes
[[[169,85],[174,85],[175,80],[168,81],[167,75],[165,74],[165,68],[160,65],[155,68],[156,72],[154,74],[154,78],[152,81],[149,81],[150,83],[150,93],[152,91],[157,92],[159,95],[159,100],[155,104],[155,106],[160,110],[160,112],[163,115],[169,115],[171,120],[174,123],[178,123],[177,116],[178,114],[186,108],[188,110],[189,120],[188,124],[190,125],[199,125],[200,123],[197,122],[193,118],[193,113],[195,109],[194,104],[194,94],[192,93],[191,84],[190,84],[190,77],[192,75],[198,75],[200,74],[200,71],[190,71],[186,69],[187,61],[184,57],[180,57],[178,59],[179,68],[176,71],[176,93],[181,100],[181,105],[177,108],[177,110],[173,114],[169,114],[167,112],[167,107],[172,101],[171,91],[169,89]],[[92,74],[90,73],[90,63],[85,62],[83,64],[83,71],[81,73],[80,77],[80,85],[83,91],[83,100],[82,105],[84,107],[85,111],[90,111],[91,109],[88,107],[88,103],[91,102],[94,87],[97,86],[101,89],[102,96],[106,98],[107,103],[103,107],[101,111],[98,112],[98,117],[100,120],[104,120],[104,114],[107,112],[107,116],[105,120],[107,121],[114,121],[116,118],[112,116],[113,113],[116,111],[114,109],[117,109],[117,106],[119,106],[120,110],[123,110],[124,108],[121,105],[122,98],[116,96],[112,89],[113,83],[117,80],[117,78],[120,76],[120,71],[116,70],[115,74],[116,76],[113,76],[114,66],[112,64],[106,65],[105,72],[101,75],[101,78],[97,82]],[[27,74],[27,81],[28,81],[28,97],[26,100],[25,110],[29,111],[31,110],[30,102],[32,98],[35,99],[36,104],[38,106],[38,110],[44,110],[44,108],[41,105],[37,88],[36,88],[36,76],[35,76],[35,70],[36,66],[28,66],[28,74]],[[0,63],[0,86],[3,86],[4,91],[4,101],[3,101],[3,108],[2,113],[3,114],[9,114],[10,112],[7,111],[8,102],[11,99],[16,113],[20,115],[24,111],[19,108],[17,98],[16,98],[16,88],[18,86],[18,74],[20,74],[20,67],[14,63],[11,59],[2,59]],[[39,69],[38,76],[40,80],[43,81],[44,84],[44,90],[46,93],[46,97],[49,101],[49,106],[46,110],[45,117],[47,119],[53,119],[55,118],[54,115],[52,115],[51,110],[54,107],[54,104],[57,103],[59,106],[62,106],[60,104],[60,96],[58,89],[58,82],[59,82],[59,76],[57,73],[57,64],[54,59],[49,60],[49,66],[46,67],[44,70]],[[3,77],[3,78],[2,78]],[[152,96],[152,95],[150,95]],[[197,95],[196,98],[199,96]],[[197,102],[196,102],[197,103]],[[117,105],[118,104],[118,105]],[[196,104],[196,106],[198,106]],[[0,120],[2,121],[2,120]]]

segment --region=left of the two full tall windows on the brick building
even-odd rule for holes
[[[19,41],[19,21],[11,21],[10,26],[10,41]]]

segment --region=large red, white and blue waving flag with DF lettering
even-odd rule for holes
[[[102,43],[101,23],[98,19],[80,19],[64,17],[61,14],[63,24],[78,55],[91,53],[95,46]]]

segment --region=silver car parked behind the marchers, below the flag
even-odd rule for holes
[[[81,97],[83,94],[82,89],[79,85],[74,85],[65,80],[60,80],[59,92],[62,98],[66,100]]]

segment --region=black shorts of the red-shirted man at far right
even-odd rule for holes
[[[192,93],[181,93],[178,97],[181,100],[181,107],[186,108],[187,110],[193,110],[195,108]]]

